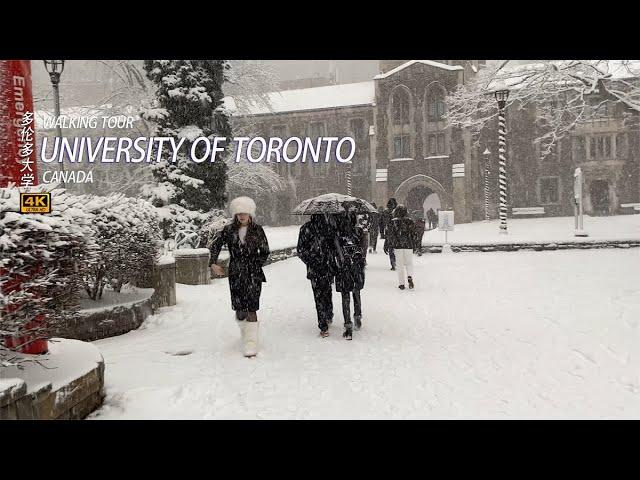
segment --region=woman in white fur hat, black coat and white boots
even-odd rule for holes
[[[223,245],[229,249],[229,288],[231,306],[240,326],[245,357],[258,353],[258,315],[262,282],[267,279],[262,266],[269,256],[269,242],[260,225],[253,219],[256,204],[249,197],[238,197],[229,204],[232,223],[216,233],[211,244],[209,265],[213,273],[223,275],[217,265]]]

